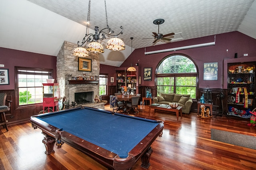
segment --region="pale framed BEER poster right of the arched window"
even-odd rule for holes
[[[204,80],[218,80],[218,62],[204,63]]]

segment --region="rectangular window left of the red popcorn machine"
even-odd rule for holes
[[[42,104],[43,84],[52,78],[52,69],[15,67],[17,107]]]

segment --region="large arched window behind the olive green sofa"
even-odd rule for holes
[[[196,98],[196,65],[184,55],[170,55],[156,68],[157,94],[190,94]]]

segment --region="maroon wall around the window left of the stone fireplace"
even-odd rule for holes
[[[1,85],[0,90],[15,89],[15,66],[32,67],[32,68],[50,68],[53,69],[53,78],[56,82],[56,57],[6,49],[0,47],[0,64],[4,64],[3,69],[9,69],[10,85]]]

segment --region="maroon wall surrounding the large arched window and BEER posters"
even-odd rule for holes
[[[244,35],[238,31],[216,35],[214,46],[144,55],[145,51],[156,51],[210,42],[214,42],[214,35],[135,49],[121,65],[121,67],[130,66],[131,63],[135,66],[135,64],[138,63],[138,66],[141,68],[141,73],[143,74],[144,67],[152,67],[152,70],[155,70],[162,59],[168,55],[180,53],[189,56],[190,59],[192,59],[192,61],[194,61],[194,63],[198,66],[199,88],[206,88],[206,86],[210,86],[210,88],[222,88],[224,59],[234,58],[235,53],[238,53],[238,58],[242,58],[246,53],[248,54],[247,57],[254,57],[254,61],[256,61],[256,39]],[[218,80],[203,80],[203,64],[212,62],[218,62]],[[152,81],[143,81],[143,75],[141,76],[142,86],[155,86],[154,72],[152,73]]]

